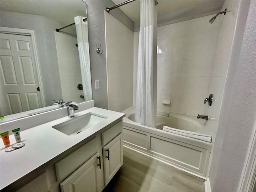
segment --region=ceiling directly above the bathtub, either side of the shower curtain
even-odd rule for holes
[[[127,0],[112,0],[116,5]],[[179,10],[189,10],[186,14],[191,14],[191,18],[206,16],[206,10],[210,14],[215,14],[220,11],[224,1],[220,0],[158,0],[157,15],[162,15]],[[204,9],[204,8],[206,9]],[[140,20],[140,0],[130,2],[119,7],[133,22]],[[181,11],[182,12],[182,11]],[[171,19],[171,18],[170,18]]]

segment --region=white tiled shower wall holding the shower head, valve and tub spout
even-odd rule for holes
[[[208,126],[210,127],[209,130],[211,130],[210,135],[213,136],[213,140],[216,135],[227,70],[228,66],[230,65],[230,52],[232,48],[234,30],[236,27],[238,5],[239,1],[225,1],[222,6],[222,10],[227,8],[228,12],[225,16],[224,14],[221,14],[216,18],[216,20],[218,19],[219,21],[218,35],[210,74],[212,83],[210,83],[208,87],[208,94],[212,93],[216,101],[212,103],[212,106],[205,106],[205,114],[216,119],[216,121],[208,122]]]

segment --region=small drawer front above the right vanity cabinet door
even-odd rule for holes
[[[123,122],[120,121],[105,132],[101,134],[102,145],[106,145],[110,142],[113,138],[115,138],[123,129]]]

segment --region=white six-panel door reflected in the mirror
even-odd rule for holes
[[[1,116],[43,107],[31,36],[0,37]]]

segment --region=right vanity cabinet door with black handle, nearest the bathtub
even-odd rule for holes
[[[123,135],[116,138],[103,147],[105,186],[116,174],[123,164]]]

